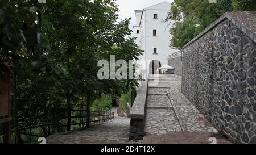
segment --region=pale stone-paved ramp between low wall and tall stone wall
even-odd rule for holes
[[[180,76],[155,74],[148,82],[143,143],[230,143],[181,93]]]

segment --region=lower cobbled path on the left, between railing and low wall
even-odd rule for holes
[[[47,137],[47,143],[95,144],[95,143],[139,143],[129,141],[130,119],[117,117],[109,122],[78,131],[57,133]]]

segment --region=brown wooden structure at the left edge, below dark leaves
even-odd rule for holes
[[[11,133],[11,84],[10,76],[0,78],[0,124],[5,126],[4,142],[10,143]]]

